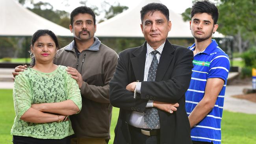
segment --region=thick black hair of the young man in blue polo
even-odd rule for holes
[[[211,15],[214,24],[217,23],[219,18],[218,8],[208,0],[198,1],[191,8],[191,18],[197,13],[208,13]]]

